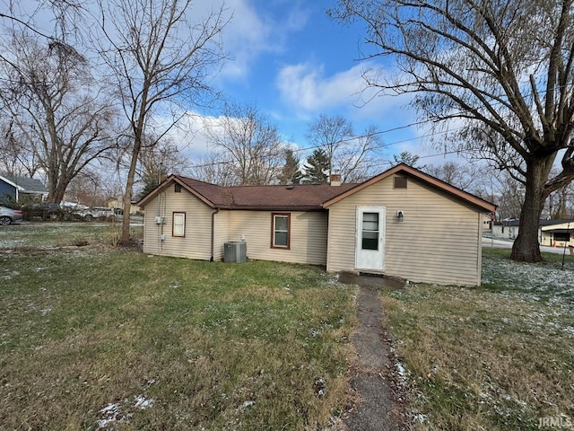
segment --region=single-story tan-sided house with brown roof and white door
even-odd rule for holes
[[[483,219],[495,206],[406,164],[360,184],[221,187],[171,175],[144,197],[143,251],[323,265],[415,282],[481,282]],[[486,214],[485,214],[486,213]]]

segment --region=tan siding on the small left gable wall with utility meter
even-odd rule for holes
[[[185,237],[171,235],[172,214],[186,213]],[[211,258],[212,209],[182,189],[175,193],[173,186],[158,193],[145,205],[143,217],[143,252],[161,256],[189,259]],[[155,224],[155,217],[165,217],[165,224]],[[161,241],[161,227],[165,241]]]

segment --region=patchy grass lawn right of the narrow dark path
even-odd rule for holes
[[[574,259],[561,270],[560,255],[527,265],[509,252],[483,248],[481,287],[382,295],[417,428],[574,427]]]

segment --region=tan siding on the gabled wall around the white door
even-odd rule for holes
[[[356,207],[387,208],[384,273],[416,282],[480,283],[482,217],[460,200],[408,178],[394,189],[393,177],[378,181],[329,208],[330,271],[355,268]],[[396,211],[404,212],[399,223]]]

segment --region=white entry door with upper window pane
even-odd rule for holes
[[[355,268],[384,268],[385,207],[357,207]]]

